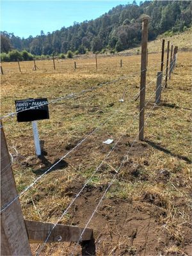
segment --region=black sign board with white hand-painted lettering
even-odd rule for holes
[[[46,98],[15,100],[15,106],[18,122],[49,119],[48,101]]]

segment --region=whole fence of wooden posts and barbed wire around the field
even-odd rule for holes
[[[103,195],[101,196],[99,203],[96,205],[95,209],[93,210],[90,218],[84,225],[84,227],[76,227],[72,225],[61,225],[59,222],[62,220],[62,218],[67,214],[68,210],[74,204],[78,196],[82,193],[83,189],[86,188],[88,183],[92,180],[93,175],[99,170],[99,168],[102,166],[102,164],[106,164],[108,161],[108,157],[115,150],[116,145],[122,140],[123,136],[127,132],[127,129],[130,128],[130,125],[128,125],[127,129],[125,129],[122,134],[120,134],[119,138],[116,140],[113,147],[107,152],[107,154],[104,156],[104,159],[100,161],[100,164],[95,168],[92,175],[84,182],[82,188],[79,190],[79,192],[74,196],[74,198],[71,200],[70,204],[68,204],[67,208],[61,216],[58,218],[58,220],[55,223],[46,223],[42,221],[33,221],[33,220],[24,220],[24,216],[22,214],[22,209],[20,206],[20,200],[19,198],[24,195],[29,189],[33,188],[35,184],[42,180],[44,175],[52,170],[54,166],[56,166],[58,163],[60,163],[61,160],[63,160],[65,157],[67,157],[70,153],[74,152],[75,150],[78,150],[79,146],[84,143],[92,134],[99,131],[99,129],[104,125],[107,124],[107,122],[110,122],[111,118],[122,109],[122,106],[120,106],[120,109],[116,109],[112,115],[109,115],[104,122],[99,124],[93,131],[88,133],[86,136],[84,136],[83,140],[79,141],[75,147],[70,149],[67,154],[60,157],[60,159],[52,164],[51,167],[42,175],[38,176],[31,184],[29,184],[28,187],[22,190],[21,193],[17,193],[16,185],[15,185],[15,179],[12,171],[12,163],[13,163],[13,156],[10,154],[8,150],[8,145],[6,142],[6,137],[4,135],[3,130],[3,124],[2,122],[6,122],[6,118],[10,118],[11,116],[17,115],[20,111],[11,112],[7,115],[1,116],[1,253],[2,255],[32,255],[31,249],[29,246],[29,243],[40,243],[42,244],[37,252],[36,255],[40,255],[42,250],[44,249],[45,244],[52,243],[52,242],[74,242],[76,243],[74,245],[73,251],[71,255],[74,255],[76,252],[77,246],[84,243],[90,243],[94,241],[93,239],[93,232],[94,230],[92,228],[88,228],[90,225],[90,222],[92,221],[93,216],[95,215],[95,212],[97,212],[97,209],[99,208],[100,204],[102,204],[102,200],[104,199],[104,196],[108,192],[109,188],[113,184],[116,175],[118,175],[120,168],[122,168],[124,161],[127,156],[129,156],[129,153],[132,150],[132,147],[134,146],[134,143],[139,139],[140,141],[145,140],[145,125],[147,124],[148,118],[152,114],[152,110],[161,103],[161,93],[163,90],[165,90],[168,87],[168,80],[171,79],[173,70],[177,66],[177,51],[178,47],[175,46],[173,48],[173,45],[171,45],[171,52],[170,52],[170,42],[168,41],[168,47],[166,51],[166,60],[164,60],[164,44],[165,40],[162,41],[162,51],[161,51],[161,62],[159,65],[159,70],[157,72],[157,76],[154,77],[151,81],[148,83],[146,82],[146,76],[147,76],[147,66],[148,66],[148,51],[147,51],[147,38],[148,38],[148,19],[143,19],[143,28],[142,28],[142,41],[141,41],[141,70],[139,72],[136,72],[134,74],[130,74],[129,76],[140,74],[141,80],[140,80],[140,92],[137,92],[135,95],[131,97],[131,99],[127,100],[125,102],[124,106],[126,106],[130,102],[134,102],[140,97],[140,111],[136,113],[132,117],[132,122],[136,121],[136,118],[139,117],[140,119],[140,125],[138,129],[138,133],[136,134],[132,144],[130,145],[129,149],[125,152],[124,157],[122,161],[120,161],[120,165],[118,168],[113,168],[115,170],[115,174],[113,175],[113,178],[109,182],[107,188],[105,189]],[[35,59],[34,61],[34,70],[37,70],[38,67],[36,66]],[[52,61],[54,65],[54,70],[56,69],[55,65],[55,59],[54,56],[52,56]],[[166,64],[166,67],[164,68],[164,65]],[[123,62],[122,59],[120,60],[120,67],[122,67]],[[18,67],[19,71],[21,72],[19,61],[18,61]],[[74,69],[77,68],[76,61],[74,62]],[[97,69],[97,54],[95,54],[95,68]],[[1,74],[3,73],[3,68],[1,67]],[[92,88],[84,89],[81,92],[77,93],[70,93],[68,95],[64,95],[63,97],[59,97],[57,99],[52,99],[49,101],[49,104],[54,104],[60,100],[66,100],[66,99],[72,99],[77,96],[81,96],[84,93],[87,92],[93,92],[97,90],[97,88],[100,88],[101,86],[108,85],[111,83],[116,83],[116,81],[120,81],[122,79],[127,79],[129,76],[123,76],[119,77],[118,79],[113,79],[111,81],[108,81],[106,83],[100,83],[97,86],[92,86]],[[156,83],[156,90],[151,93],[150,97],[145,100],[145,90],[146,90],[146,84],[152,84]],[[123,94],[123,101],[124,102],[124,95],[126,92],[126,87],[124,89]],[[154,99],[154,104],[152,105],[152,108],[149,109],[149,113],[147,116],[145,116],[145,109],[148,106],[148,104],[151,102],[151,100]],[[22,110],[25,111],[25,110]],[[129,113],[126,113],[128,115]],[[13,148],[14,149],[14,148]],[[18,154],[17,149],[15,148],[16,156]],[[93,253],[93,248],[90,249],[91,251],[88,253]],[[90,255],[90,254],[87,254]]]

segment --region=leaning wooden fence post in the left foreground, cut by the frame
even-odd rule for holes
[[[1,255],[31,255],[19,198],[4,209],[15,197],[15,179],[1,124]]]

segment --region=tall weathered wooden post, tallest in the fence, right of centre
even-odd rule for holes
[[[148,40],[148,19],[145,17],[142,24],[141,39],[141,81],[140,81],[140,128],[139,139],[144,140],[145,124],[145,85],[147,73],[147,40]]]

